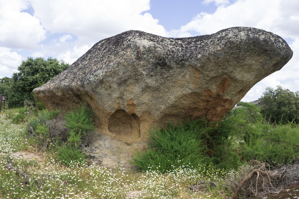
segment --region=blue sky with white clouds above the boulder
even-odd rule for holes
[[[0,78],[28,57],[72,64],[98,41],[127,30],[177,38],[237,26],[277,34],[294,53],[241,101],[257,100],[266,87],[299,91],[298,0],[0,0]]]

